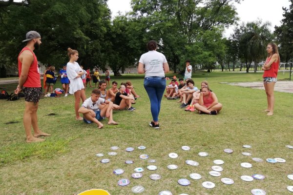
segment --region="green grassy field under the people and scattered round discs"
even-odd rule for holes
[[[169,75],[172,76],[172,75]],[[275,110],[272,117],[267,117],[262,110],[267,100],[263,90],[220,84],[220,82],[262,81],[261,73],[203,73],[193,74],[195,86],[202,80],[208,80],[210,88],[223,104],[223,110],[217,116],[199,115],[185,112],[175,100],[163,99],[160,113],[160,130],[148,126],[151,120],[149,100],[143,87],[143,76],[126,75],[112,77],[118,83],[131,80],[141,98],[134,105],[134,112],[114,111],[114,120],[119,125],[107,125],[97,129],[94,124],[76,121],[74,115],[74,97],[42,98],[38,111],[39,126],[52,136],[42,143],[25,143],[22,125],[24,100],[0,100],[0,195],[75,195],[84,190],[101,188],[111,195],[131,195],[131,188],[136,185],[145,187],[144,195],[158,195],[168,190],[173,195],[249,195],[252,189],[263,189],[269,195],[292,194],[286,188],[293,185],[287,175],[293,174],[293,113],[292,98],[289,93],[275,92]],[[289,73],[279,74],[278,79],[289,78]],[[60,87],[60,81],[57,81]],[[12,92],[16,84],[5,86]],[[86,91],[87,97],[90,88]],[[48,116],[54,113],[55,116]],[[251,145],[245,149],[242,145]],[[145,150],[137,147],[144,145]],[[191,149],[184,151],[182,146]],[[111,146],[118,146],[116,151]],[[126,152],[133,147],[133,152]],[[226,148],[233,149],[232,154],[224,153]],[[117,152],[109,156],[108,152]],[[168,157],[177,153],[177,158]],[[207,152],[209,156],[198,156]],[[241,152],[250,152],[244,156]],[[96,157],[97,153],[105,156]],[[147,154],[156,163],[148,163],[139,156]],[[255,162],[252,157],[262,159],[281,157],[285,163]],[[103,164],[103,158],[110,162]],[[199,166],[185,164],[186,160],[195,160]],[[222,176],[209,175],[213,160],[222,159]],[[125,164],[133,160],[133,164]],[[243,168],[242,162],[249,162],[252,168]],[[169,170],[167,165],[176,164],[178,169]],[[146,169],[156,165],[156,171]],[[143,177],[134,179],[134,168],[143,167]],[[124,169],[122,175],[114,175],[115,169]],[[160,180],[151,180],[149,175],[160,174]],[[199,180],[189,177],[191,173],[202,176]],[[262,174],[263,180],[254,179],[246,182],[240,176]],[[229,177],[234,184],[221,182],[222,177]],[[119,179],[128,178],[128,186],[118,186]],[[177,183],[180,178],[188,178],[189,186]],[[215,183],[215,188],[206,189],[204,181]]]

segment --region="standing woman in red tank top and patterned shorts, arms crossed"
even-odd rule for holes
[[[268,112],[267,116],[273,115],[273,104],[274,104],[274,95],[273,89],[274,85],[277,82],[277,74],[280,63],[280,56],[278,53],[278,48],[275,43],[269,43],[267,46],[268,57],[263,67],[263,82],[267,94],[268,108],[264,112]]]

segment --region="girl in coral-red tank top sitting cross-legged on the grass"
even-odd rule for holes
[[[194,108],[199,111],[199,114],[217,115],[222,107],[215,93],[211,92],[208,86],[203,86],[199,101],[194,104]]]

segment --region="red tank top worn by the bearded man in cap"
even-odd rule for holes
[[[23,87],[42,87],[41,86],[41,79],[40,79],[40,70],[39,70],[39,66],[38,66],[38,59],[37,59],[35,53],[32,50],[30,50],[28,47],[24,47],[21,50],[21,53],[24,50],[28,50],[33,54],[34,61],[32,62],[32,64],[29,67],[29,70],[27,73],[27,78],[26,78],[26,81],[23,83]],[[19,77],[21,76],[21,67],[22,67],[22,63],[20,61],[21,53],[18,56]]]

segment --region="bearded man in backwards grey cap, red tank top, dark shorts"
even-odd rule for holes
[[[15,93],[18,94],[23,91],[25,99],[25,109],[23,114],[23,126],[26,134],[26,142],[44,141],[39,137],[50,136],[39,129],[37,110],[39,100],[42,94],[42,86],[40,79],[40,70],[38,67],[38,60],[33,52],[41,45],[41,35],[36,31],[29,31],[26,33],[26,46],[21,50],[18,57],[19,66],[19,85]],[[31,127],[34,129],[32,135]]]

